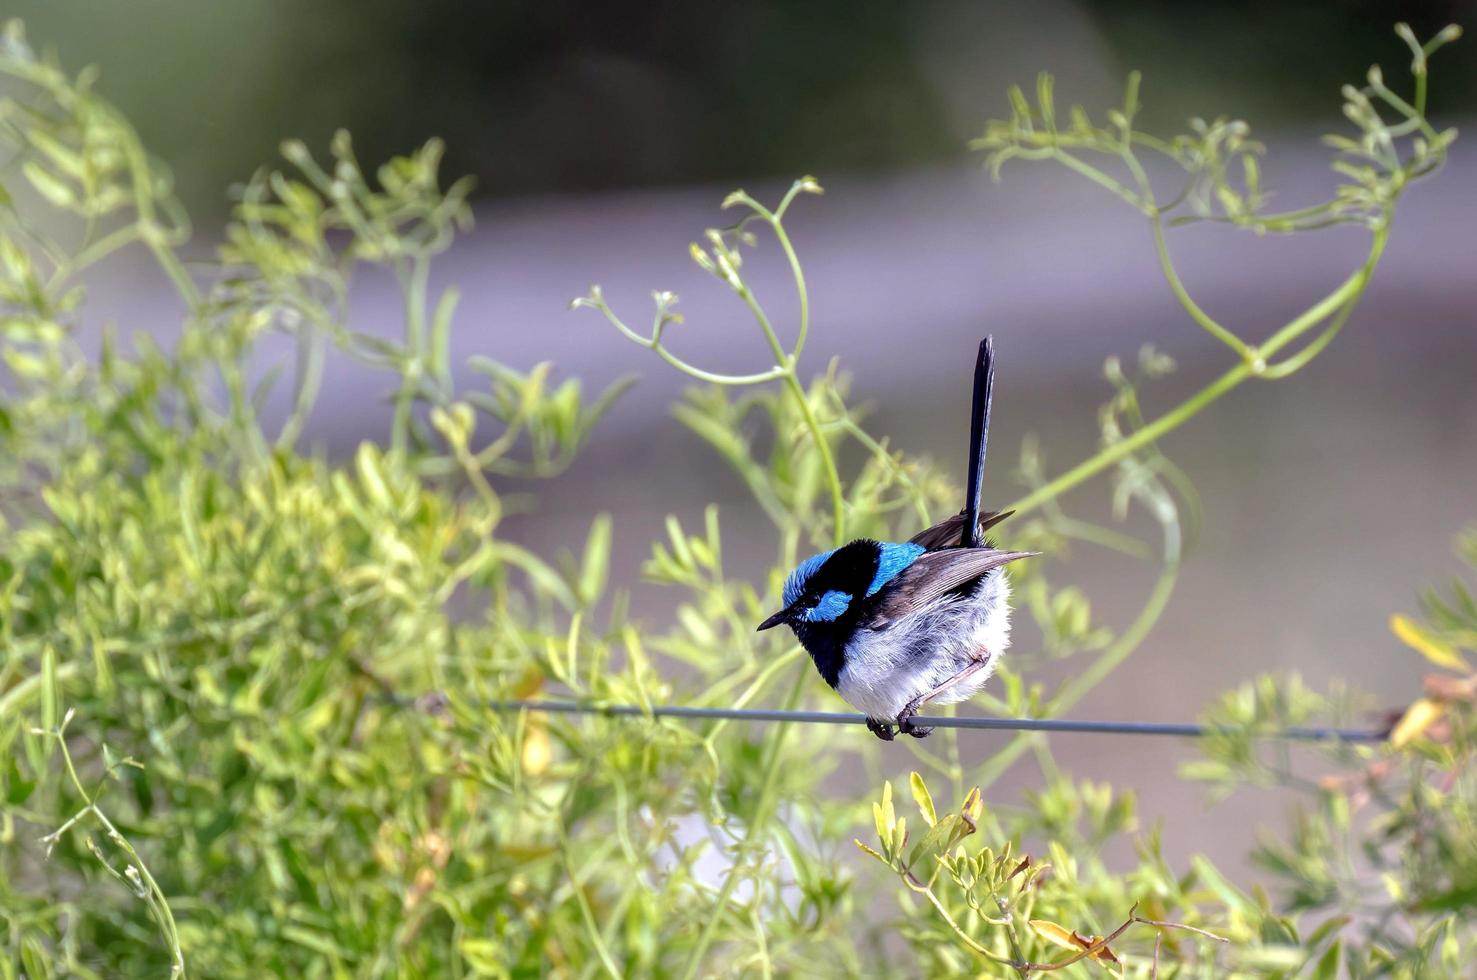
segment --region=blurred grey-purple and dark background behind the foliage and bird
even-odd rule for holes
[[[1040,165],[990,182],[964,143],[1007,111],[1006,86],[1049,69],[1060,102],[1100,114],[1142,68],[1143,128],[1250,120],[1269,145],[1264,183],[1278,207],[1297,207],[1334,187],[1317,137],[1343,122],[1340,84],[1372,62],[1403,83],[1408,53],[1391,25],[1409,21],[1421,37],[1477,27],[1477,4],[1377,0],[9,7],[66,65],[100,68],[100,90],[174,168],[202,255],[226,189],[276,164],[282,137],[325,149],[346,127],[366,164],[445,137],[448,177],[479,180],[477,227],[436,272],[462,289],[456,353],[554,360],[591,388],[642,378],[567,475],[523,487],[538,499],[510,533],[552,552],[580,542],[595,512],[614,512],[617,574],[650,620],[675,599],[637,584],[666,514],[690,522],[718,500],[736,574],[761,574],[774,542],[741,487],[668,415],[684,378],[600,317],[566,310],[591,282],[635,322],[651,289],[678,291],[687,323],[674,347],[706,366],[762,370],[761,338],[691,267],[687,244],[725,223],[716,205],[733,187],[774,199],[815,174],[826,196],[803,198],[792,220],[814,307],[808,368],[842,354],[855,396],[874,406],[873,431],[957,466],[962,481],[969,359],[993,332],[987,494],[1001,503],[1018,494],[1027,432],[1052,472],[1093,450],[1106,356],[1154,342],[1176,357],[1180,370],[1145,393],[1154,413],[1230,363],[1170,295],[1140,215]],[[1470,130],[1477,41],[1434,59],[1431,90],[1439,122]],[[1416,694],[1412,654],[1385,623],[1456,570],[1452,534],[1477,518],[1474,229],[1477,142],[1464,137],[1447,170],[1403,201],[1344,335],[1291,381],[1245,385],[1167,441],[1202,494],[1202,533],[1161,626],[1074,714],[1188,720],[1278,667],[1315,686],[1347,679],[1391,705]],[[1257,338],[1351,272],[1365,236],[1189,227],[1170,244],[1201,304]],[[775,251],[762,244],[753,261],[783,319]],[[145,269],[109,266],[90,307],[124,332],[162,331],[170,292]],[[397,329],[384,283],[360,283],[354,301],[359,329]],[[387,412],[369,410],[381,393],[365,385],[343,363],[331,373],[310,429],[329,452],[384,434]],[[1097,481],[1069,505],[1103,517],[1106,497]],[[1137,610],[1151,570],[1072,558],[1055,577],[1077,580],[1094,612],[1123,623]],[[967,744],[985,756],[995,738]],[[1174,779],[1193,753],[1179,742],[1059,747],[1077,772],[1134,787],[1146,821],[1165,818],[1171,855],[1204,850],[1235,866],[1251,828],[1278,819],[1270,796],[1208,809]],[[889,750],[894,775],[910,763]],[[997,801],[1027,775],[997,787]]]

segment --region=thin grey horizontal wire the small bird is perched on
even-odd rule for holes
[[[493,711],[545,711],[549,714],[603,714],[616,717],[678,717],[731,719],[736,722],[798,722],[801,725],[866,725],[867,716],[843,711],[780,711],[772,708],[699,708],[674,704],[583,704],[579,701],[489,701]],[[1174,738],[1205,738],[1235,734],[1213,725],[1183,725],[1161,722],[1072,722],[1037,717],[935,717],[917,716],[920,728],[962,728],[994,732],[1058,732],[1077,735],[1168,735]],[[1291,741],[1382,742],[1384,731],[1362,728],[1284,728],[1252,732],[1252,738],[1284,738]]]

